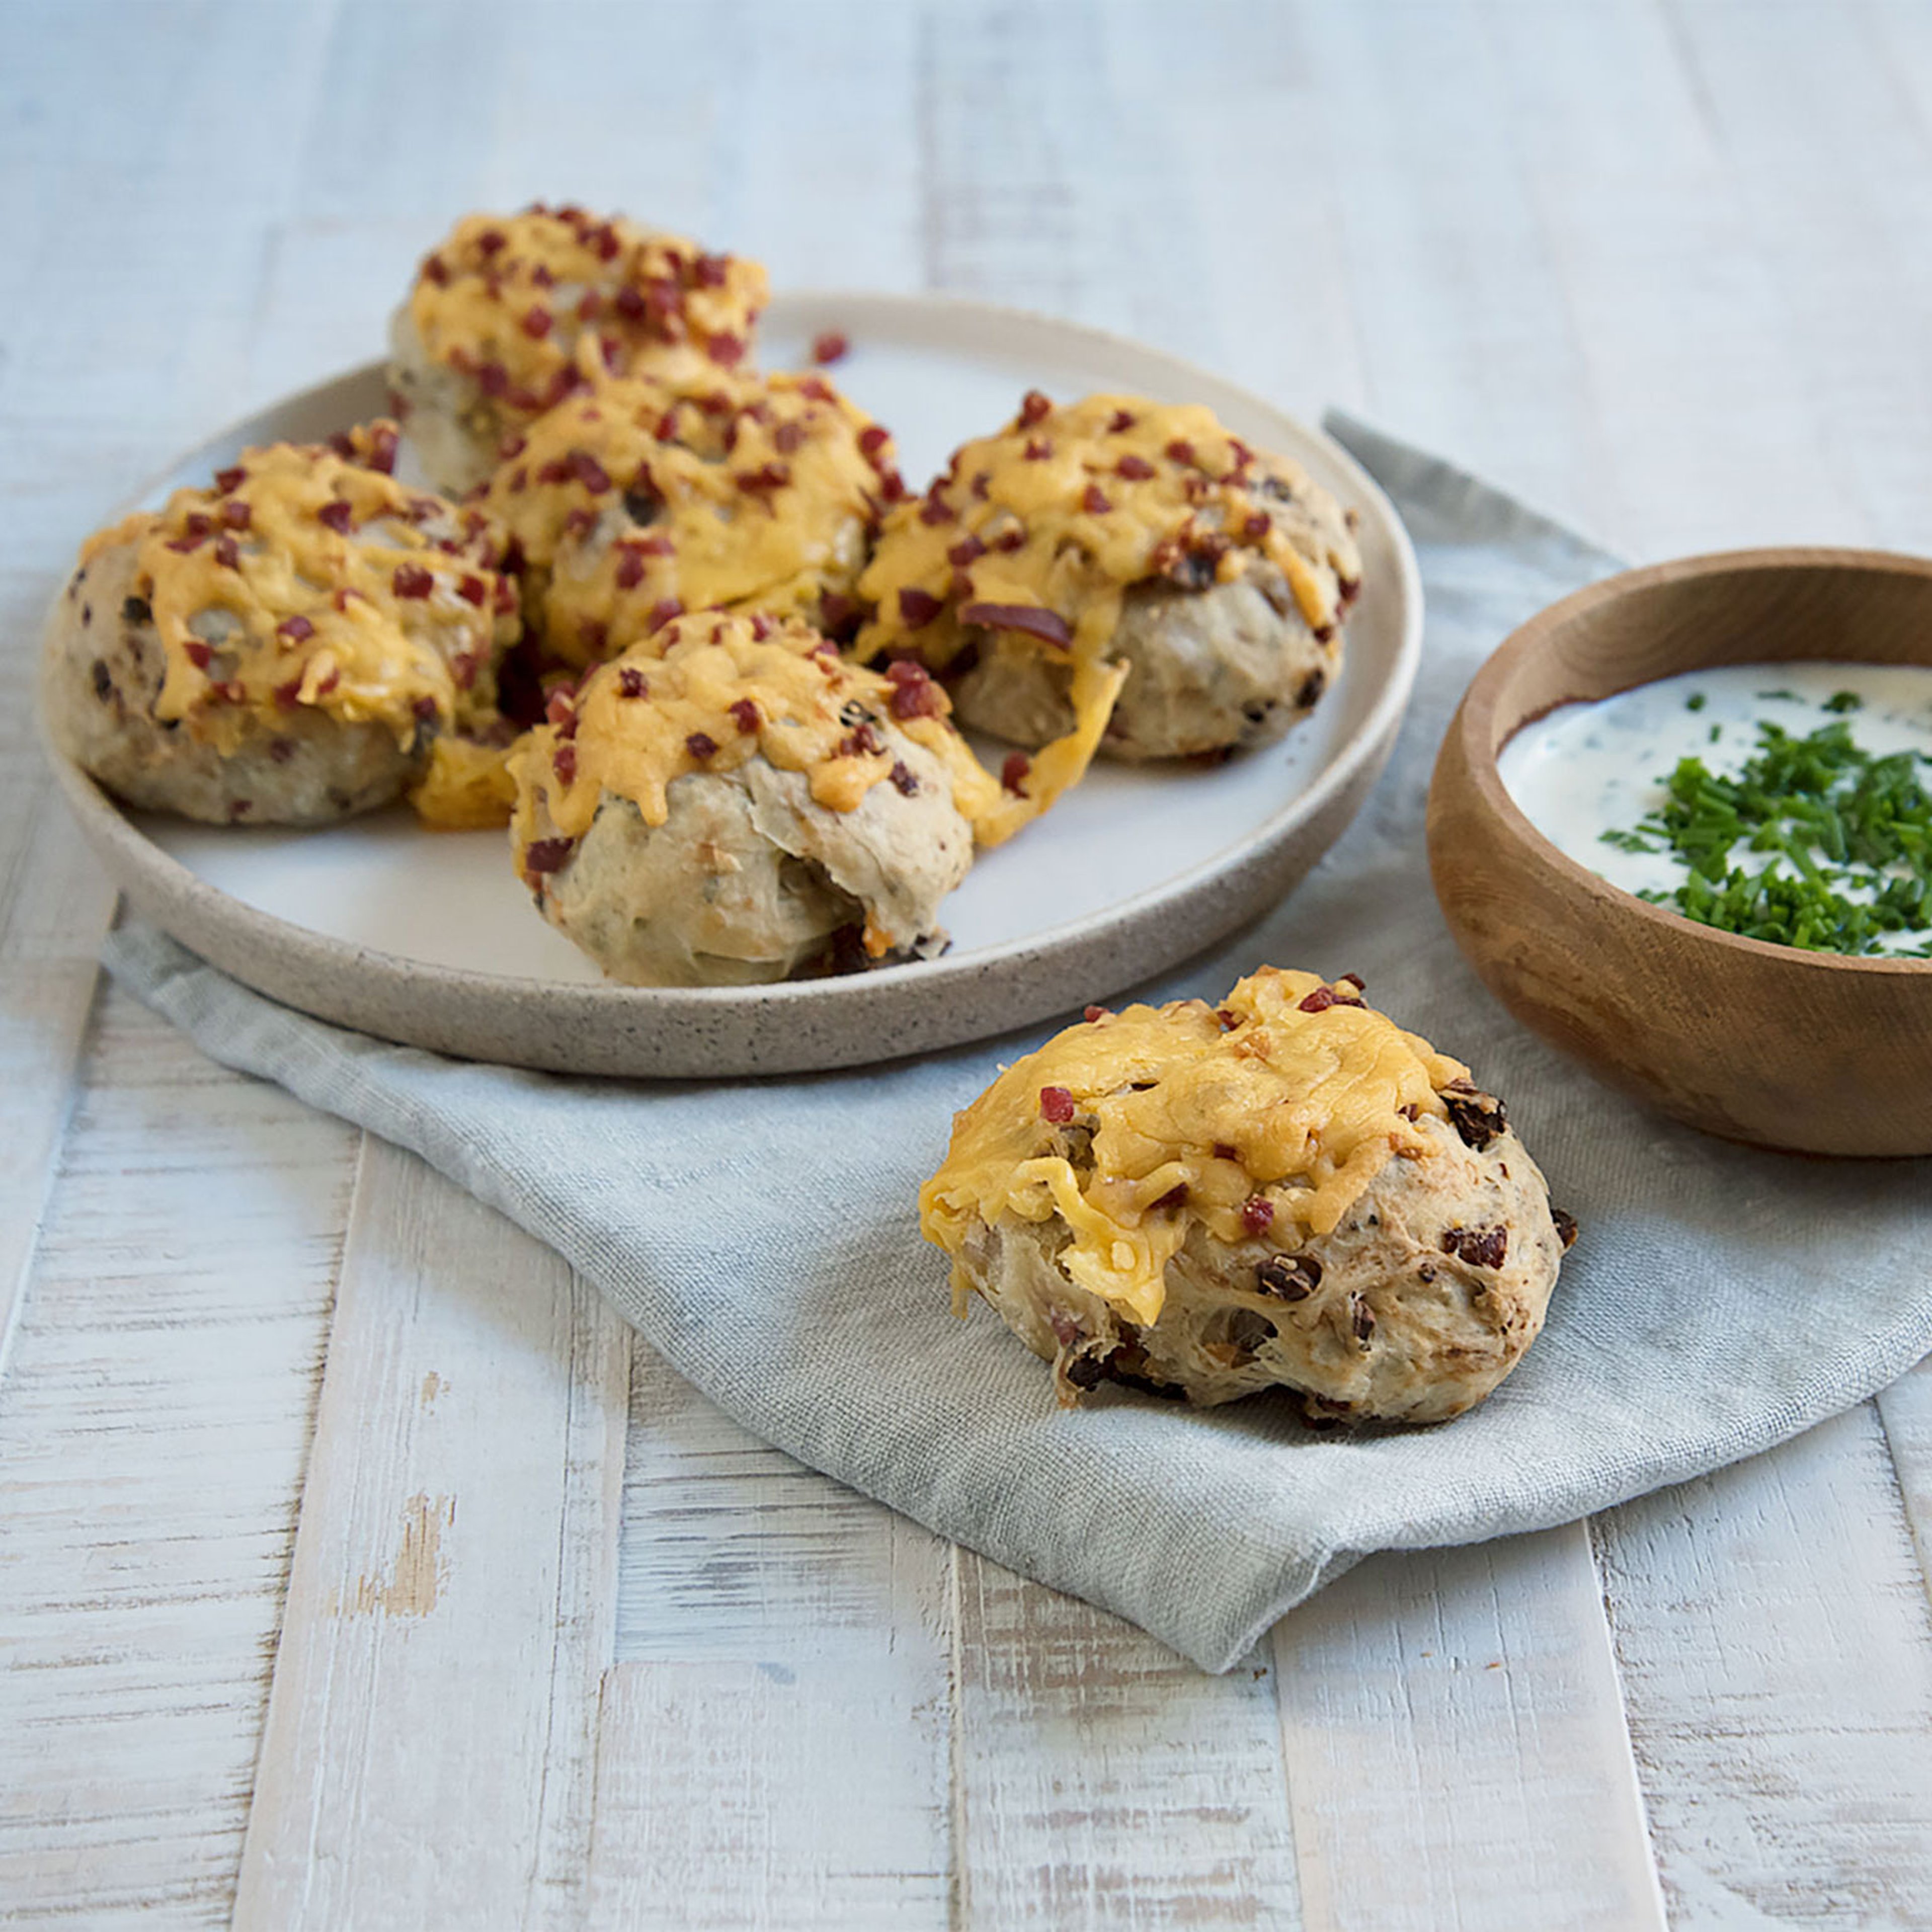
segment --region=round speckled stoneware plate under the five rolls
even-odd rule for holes
[[[531,908],[500,833],[425,833],[406,810],[327,831],[216,829],[124,813],[73,767],[68,800],[128,898],[272,999],[468,1059],[558,1072],[724,1076],[895,1059],[1072,1010],[1211,945],[1294,887],[1354,817],[1395,742],[1422,649],[1422,589],[1395,510],[1347,452],[1171,355],[1039,315],[931,296],[781,296],[767,367],[827,328],[837,369],[923,483],[1022,390],[1204,402],[1360,512],[1362,599],[1343,676],[1285,744],[1213,771],[1095,765],[947,902],[939,960],[777,987],[603,980]],[[369,363],[191,450],[153,497],[251,442],[313,440],[381,413]],[[147,498],[143,498],[147,500]]]

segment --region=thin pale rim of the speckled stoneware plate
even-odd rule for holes
[[[315,931],[309,925],[299,925],[280,914],[265,912],[259,906],[251,906],[245,900],[236,898],[149,838],[93,777],[54,748],[46,734],[44,717],[41,715],[44,699],[37,678],[35,711],[37,723],[41,724],[39,738],[43,753],[54,767],[56,781],[60,782],[70,810],[81,821],[81,829],[89,833],[97,850],[102,858],[112,852],[128,867],[124,873],[120,867],[110,866],[110,869],[116,871],[116,885],[122,891],[131,891],[131,873],[139,877],[141,885],[156,896],[182,900],[199,916],[228,925],[234,937],[243,943],[253,941],[276,951],[305,951],[317,958],[319,966],[379,980],[392,991],[402,991],[412,983],[421,985],[421,981],[433,980],[446,985],[454,995],[471,1001],[543,999],[568,1003],[587,1014],[609,1014],[612,1018],[624,1016],[632,1022],[645,1022],[653,1032],[659,1032],[674,1028],[680,1016],[723,1018],[746,1009],[775,1014],[786,1014],[800,1009],[811,1012],[823,1010],[827,1018],[835,1018],[838,1009],[862,1009],[864,1005],[877,1001],[881,995],[908,985],[908,981],[918,987],[929,987],[937,999],[943,999],[949,987],[958,987],[987,972],[1005,974],[1024,970],[1041,954],[1063,952],[1084,943],[1103,941],[1109,933],[1150,916],[1157,908],[1173,906],[1179,900],[1196,900],[1202,893],[1211,891],[1215,883],[1238,873],[1246,866],[1252,866],[1258,858],[1267,856],[1277,846],[1285,846],[1298,827],[1314,823],[1325,811],[1333,810],[1337,800],[1349,792],[1350,786],[1362,786],[1366,796],[1368,786],[1362,784],[1364,771],[1372,782],[1374,775],[1379,771],[1381,759],[1385,759],[1387,752],[1393,748],[1395,732],[1408,707],[1416,674],[1420,670],[1424,620],[1422,578],[1416,564],[1414,543],[1397,514],[1395,504],[1368,473],[1368,469],[1356,460],[1356,456],[1335,437],[1331,437],[1321,425],[1306,423],[1300,415],[1281,408],[1267,396],[1248,390],[1229,377],[1204,369],[1188,357],[1175,355],[1169,350],[1140,342],[1119,330],[1099,328],[1090,323],[1065,321],[1037,309],[980,301],[972,296],[949,292],[908,294],[893,290],[808,288],[784,290],[777,294],[767,309],[767,317],[773,309],[794,305],[850,305],[869,307],[875,315],[952,315],[960,321],[980,319],[1001,325],[1049,328],[1063,340],[1068,340],[1068,346],[1074,350],[1078,350],[1078,344],[1084,340],[1095,348],[1124,352],[1128,355],[1151,355],[1173,369],[1179,379],[1198,381],[1209,388],[1242,396],[1256,406],[1289,419],[1304,437],[1310,439],[1310,442],[1320,444],[1327,460],[1333,462],[1347,477],[1349,487],[1356,493],[1362,506],[1383,526],[1383,533],[1391,543],[1395,553],[1397,587],[1401,595],[1401,634],[1397,638],[1395,661],[1389,667],[1389,674],[1385,676],[1381,690],[1376,692],[1362,721],[1337,748],[1327,765],[1316,773],[1312,782],[1283,800],[1271,813],[1267,813],[1267,817],[1250,825],[1235,842],[1219,848],[1204,860],[1198,860],[1186,871],[1173,873],[1157,885],[1144,887],[1126,898],[1113,900],[1105,908],[1018,939],[1007,939],[989,947],[976,947],[958,954],[945,954],[937,960],[914,960],[846,978],[790,980],[755,987],[645,987],[622,985],[609,980],[578,983],[539,980],[524,974],[495,974],[471,966],[442,966],[412,960],[398,952],[386,952],[355,941],[338,939],[330,933]],[[197,466],[205,456],[213,454],[222,444],[236,440],[247,431],[247,425],[261,415],[270,412],[292,413],[303,406],[319,406],[338,388],[381,381],[383,369],[384,359],[373,357],[342,369],[332,377],[325,377],[303,388],[290,390],[242,412],[155,471],[147,483],[124,498],[122,504],[110,514],[126,514],[129,508],[137,508],[141,502],[166,489],[168,481],[182,469]],[[64,583],[66,576],[62,578],[62,585]],[[58,601],[58,587],[54,597]],[[1339,829],[1335,837],[1339,837]],[[1242,918],[1250,914],[1244,914]],[[170,922],[156,923],[168,925]],[[1242,923],[1242,920],[1227,922],[1221,931],[1231,929],[1235,923]],[[1219,933],[1204,937],[1200,945],[1211,943],[1213,937],[1219,937]],[[1153,966],[1151,970],[1161,972],[1179,964],[1180,958],[1198,951],[1200,945],[1173,952],[1163,964]],[[238,974],[238,978],[247,976]],[[968,1032],[954,1036],[952,1043],[964,1045],[972,1039],[991,1037],[997,1030],[1005,1028],[987,1030],[983,1026],[974,1026]],[[869,1055],[869,1059],[883,1057],[891,1055]],[[811,1065],[840,1065],[840,1061],[817,1059]],[[862,1065],[862,1061],[844,1061],[844,1065]],[[721,1068],[717,1076],[730,1078],[732,1070]]]

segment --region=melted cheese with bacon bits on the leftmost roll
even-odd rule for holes
[[[398,483],[394,452],[394,423],[245,450],[213,489],[89,539],[83,556],[137,545],[166,659],[158,719],[232,752],[296,705],[398,744],[491,711],[518,634],[502,539],[481,510]]]

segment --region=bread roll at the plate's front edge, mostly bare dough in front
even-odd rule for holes
[[[753,985],[931,954],[999,786],[931,680],[810,626],[703,612],[589,672],[512,753],[518,873],[634,985]]]

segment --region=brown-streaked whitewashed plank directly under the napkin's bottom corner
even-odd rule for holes
[[[1265,1646],[1206,1677],[960,1551],[958,1656],[964,1924],[1300,1922]]]

